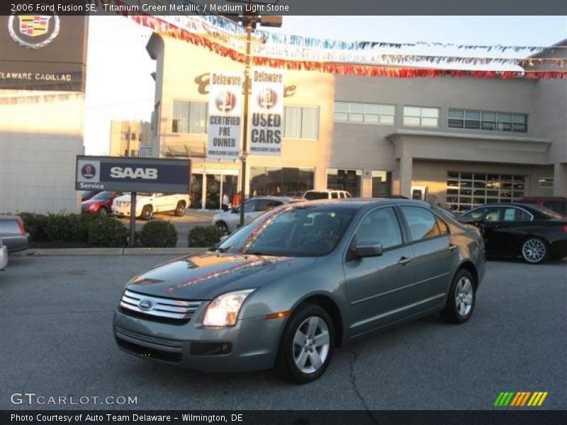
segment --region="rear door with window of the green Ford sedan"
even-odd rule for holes
[[[453,278],[459,249],[451,244],[449,227],[428,208],[400,206],[413,249],[409,268],[415,276],[415,312],[442,304]]]

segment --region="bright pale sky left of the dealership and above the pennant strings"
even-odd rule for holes
[[[553,45],[567,38],[567,16],[284,16],[279,31],[339,40]],[[145,50],[150,35],[151,30],[122,16],[89,18],[86,154],[108,154],[111,120],[150,121],[155,91],[155,61]]]

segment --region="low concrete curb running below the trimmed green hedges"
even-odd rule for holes
[[[208,248],[51,248],[28,249],[11,256],[189,255]]]

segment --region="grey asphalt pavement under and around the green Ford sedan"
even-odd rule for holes
[[[467,324],[437,316],[335,351],[309,385],[269,371],[205,374],[123,353],[112,334],[124,283],[170,256],[13,257],[0,272],[0,409],[14,392],[131,396],[88,409],[493,409],[502,391],[567,399],[567,261],[490,261]],[[502,408],[500,408],[502,409]]]

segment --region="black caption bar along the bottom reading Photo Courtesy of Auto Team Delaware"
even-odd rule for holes
[[[539,410],[500,411],[191,411],[191,410],[11,410],[0,412],[0,424],[36,425],[140,425],[140,424],[231,424],[231,425],[558,425],[567,422],[567,412]],[[529,410],[528,410],[529,409]]]

